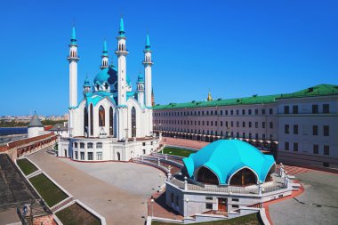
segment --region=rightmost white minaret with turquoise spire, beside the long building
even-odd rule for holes
[[[146,108],[151,108],[151,66],[153,65],[153,61],[151,60],[151,49],[150,49],[150,41],[149,35],[147,34],[146,38],[146,46],[144,49],[144,75],[145,75],[145,92],[146,92]]]

